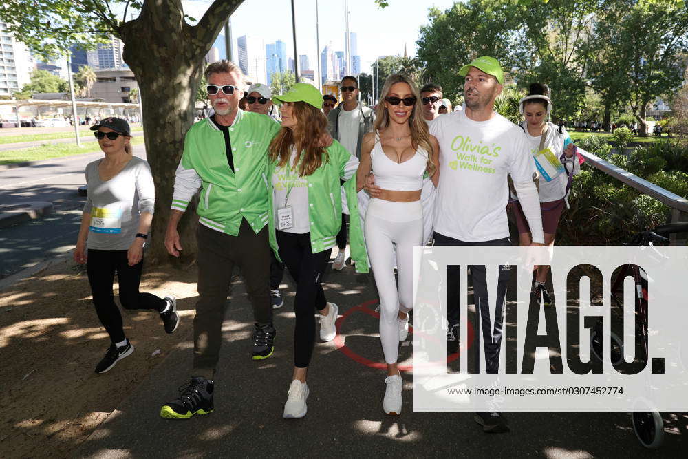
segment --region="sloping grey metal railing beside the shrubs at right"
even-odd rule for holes
[[[585,158],[585,161],[588,162],[588,164],[591,164],[607,175],[616,178],[616,180],[621,180],[621,182],[627,184],[628,186],[631,186],[641,193],[651,196],[659,202],[669,206],[669,208],[671,208],[671,223],[688,220],[687,199],[681,198],[679,195],[671,193],[671,191],[665,190],[652,182],[648,182],[644,178],[638,177],[638,175],[632,174],[629,171],[625,171],[624,169],[621,169],[621,167],[583,150],[581,147],[578,147],[578,152],[583,155],[583,158]],[[672,234],[671,245],[676,245],[676,242],[676,234]]]

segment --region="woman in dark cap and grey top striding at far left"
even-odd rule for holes
[[[87,263],[96,314],[110,337],[111,345],[96,365],[96,373],[105,373],[133,352],[114,301],[115,273],[122,308],[157,311],[167,333],[177,330],[179,314],[175,297],[160,298],[138,290],[143,247],[155,204],[151,168],[131,154],[131,134],[125,120],[105,118],[91,130],[96,131],[105,158],[86,166],[88,200],[81,217],[74,260],[78,264]]]

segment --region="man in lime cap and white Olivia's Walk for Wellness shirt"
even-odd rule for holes
[[[502,67],[495,58],[482,56],[464,65],[459,74],[465,77],[466,108],[439,116],[430,124],[430,134],[440,144],[440,182],[433,222],[435,245],[512,245],[506,220],[509,198],[506,175],[509,174],[519,200],[526,203],[524,213],[533,230],[533,245],[541,246],[544,236],[537,189],[533,183],[535,164],[526,136],[523,129],[493,111],[495,99],[502,92],[504,83]],[[447,277],[447,298],[450,299],[447,304],[447,347],[450,352],[456,352],[459,338],[458,270],[450,271]],[[485,267],[471,266],[471,277],[482,323],[486,372],[497,373],[510,268],[499,268],[494,320],[490,317]],[[479,343],[480,336],[476,336],[475,350],[480,348]],[[498,412],[479,412],[475,421],[487,432],[508,431]]]

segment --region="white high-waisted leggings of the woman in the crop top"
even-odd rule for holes
[[[380,295],[380,341],[385,362],[399,353],[398,314],[413,308],[413,246],[421,246],[423,211],[419,201],[372,199],[365,213],[365,246]],[[399,277],[394,280],[394,246]]]

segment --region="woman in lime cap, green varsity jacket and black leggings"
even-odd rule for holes
[[[343,186],[350,202],[350,246],[356,270],[367,272],[368,262],[356,199],[358,158],[336,141],[321,147],[327,131],[322,94],[312,85],[297,83],[272,99],[281,104],[282,129],[269,148],[270,245],[297,283],[294,376],[283,417],[302,418],[315,339],[314,309],[320,314],[321,340],[332,341],[336,335],[338,308],[327,302],[320,283],[341,227],[340,178],[346,181]]]

